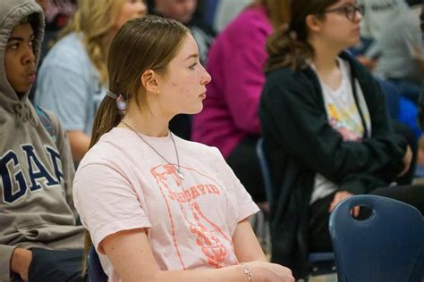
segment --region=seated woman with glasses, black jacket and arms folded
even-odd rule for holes
[[[329,215],[344,198],[383,195],[424,212],[424,187],[387,188],[409,169],[411,148],[376,80],[344,51],[360,41],[360,11],[353,0],[292,1],[288,25],[267,42],[259,119],[273,183],[272,261],[296,278],[307,275],[308,253],[332,250]]]

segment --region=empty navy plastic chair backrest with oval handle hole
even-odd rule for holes
[[[372,210],[352,218],[354,206]],[[330,215],[338,281],[423,281],[424,221],[415,207],[377,195],[355,195]]]

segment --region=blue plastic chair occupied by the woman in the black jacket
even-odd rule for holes
[[[267,162],[267,154],[264,140],[259,138],[256,145],[256,153],[259,158],[260,170],[262,172],[262,178],[264,178],[265,194],[267,195],[267,201],[272,205],[272,179],[271,171],[269,170]],[[310,262],[310,276],[317,276],[322,274],[334,273],[335,267],[335,253],[309,253],[308,261]]]

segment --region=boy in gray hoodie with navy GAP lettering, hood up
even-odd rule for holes
[[[43,29],[33,0],[0,1],[0,281],[82,279],[68,140],[28,99]]]

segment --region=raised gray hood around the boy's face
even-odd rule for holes
[[[34,17],[36,21],[30,23],[34,29],[33,48],[37,67],[44,34],[43,10],[34,0],[0,1],[0,105],[6,112],[16,114],[18,120],[22,121],[34,120],[32,117],[34,112],[30,110],[30,101],[28,100],[30,91],[18,97],[7,81],[4,70],[4,51],[13,28],[22,19],[32,14],[36,15]]]

